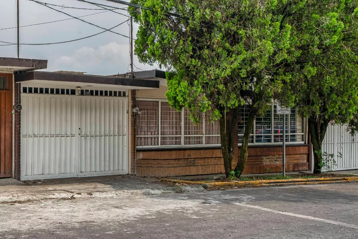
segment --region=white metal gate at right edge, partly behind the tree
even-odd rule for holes
[[[358,134],[352,137],[347,132],[347,126],[330,124],[323,140],[322,151],[335,155],[336,165],[332,166],[333,171],[358,169]],[[338,152],[342,157],[338,157]]]

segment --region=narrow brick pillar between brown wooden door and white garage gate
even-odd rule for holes
[[[17,104],[21,104],[21,99],[20,101],[18,101],[18,87],[21,87],[20,83],[15,83],[15,88],[14,88],[14,92],[15,92],[15,101],[14,104],[15,106]],[[14,178],[16,178],[17,180],[20,180],[20,168],[21,168],[21,160],[20,160],[20,156],[21,156],[21,111],[17,111],[15,110],[15,121],[14,121],[14,158],[15,158],[15,162],[14,162],[14,167],[15,167],[15,172],[14,172]]]

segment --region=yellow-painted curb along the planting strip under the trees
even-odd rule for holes
[[[229,182],[205,182],[205,181],[185,181],[162,179],[163,182],[184,183],[187,185],[201,185],[205,188],[213,187],[267,187],[267,186],[286,186],[320,183],[343,183],[358,182],[358,177],[325,177],[325,178],[296,178],[280,180],[255,180],[255,181],[229,181]]]

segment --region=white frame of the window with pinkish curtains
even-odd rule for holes
[[[185,135],[184,134],[184,108],[180,111],[181,112],[181,123],[180,123],[180,127],[181,127],[181,134],[180,135],[161,135],[161,102],[168,102],[168,100],[165,99],[144,99],[144,98],[137,98],[136,101],[159,101],[158,102],[158,135],[137,135],[137,131],[135,131],[135,137],[136,139],[139,137],[158,137],[158,145],[144,145],[144,146],[137,146],[136,148],[190,148],[190,147],[195,147],[195,148],[200,148],[200,147],[217,147],[220,146],[221,144],[205,144],[205,137],[208,136],[213,136],[213,137],[220,137],[220,134],[205,134],[205,113],[203,113],[203,124],[202,124],[202,131],[203,134],[200,135]],[[140,109],[139,109],[140,110]],[[178,112],[178,111],[177,111]],[[136,120],[139,120],[138,117]],[[136,122],[137,123],[137,122]],[[137,125],[138,127],[138,125]],[[175,137],[180,137],[181,138],[181,143],[180,144],[175,144],[175,145],[161,145],[161,137],[170,137],[170,136],[175,136]],[[196,137],[202,137],[203,138],[203,144],[184,144],[184,138],[185,137],[192,137],[192,136],[196,136]]]

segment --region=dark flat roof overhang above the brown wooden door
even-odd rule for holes
[[[47,68],[47,60],[0,57],[0,71],[33,71]]]

